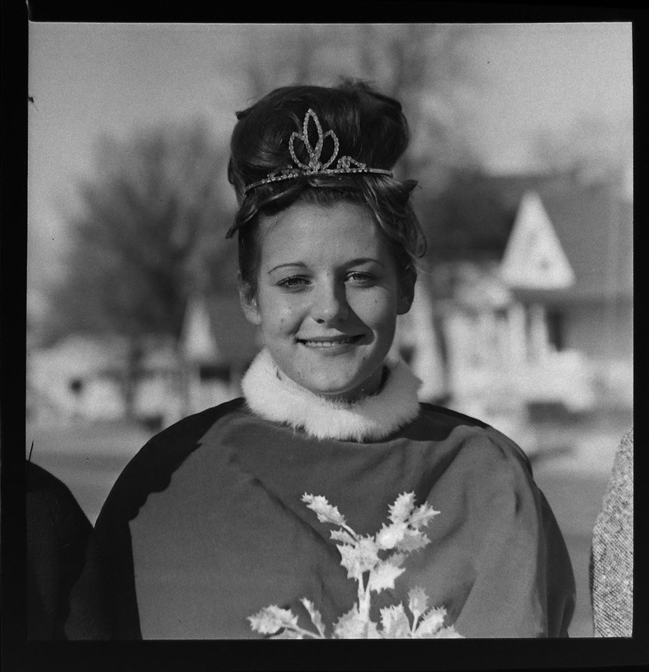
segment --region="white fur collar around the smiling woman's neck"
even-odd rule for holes
[[[267,420],[300,428],[319,439],[379,440],[419,413],[421,381],[403,361],[386,362],[383,389],[354,403],[332,401],[280,378],[277,364],[263,349],[242,380],[250,409]]]

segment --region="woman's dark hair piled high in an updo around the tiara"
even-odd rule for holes
[[[400,182],[375,173],[315,173],[266,183],[246,192],[246,186],[265,179],[270,172],[295,168],[288,139],[294,131],[302,132],[309,109],[316,113],[323,132],[335,132],[340,144],[338,157],[349,156],[368,167],[391,170],[407,148],[409,130],[400,103],[363,82],[345,80],[335,87],[281,87],[237,112],[228,179],[235,187],[239,210],[228,237],[238,230],[242,281],[256,293],[259,214],[277,214],[298,201],[330,204],[340,200],[361,204],[372,212],[400,274],[416,277],[414,258],[426,252],[426,239],[410,203],[416,181]],[[327,151],[324,149],[323,154]],[[295,153],[301,162],[309,162],[302,143],[295,143]]]

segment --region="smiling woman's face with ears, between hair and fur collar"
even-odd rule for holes
[[[349,202],[298,202],[259,225],[257,295],[242,288],[242,304],[275,363],[316,394],[377,391],[412,293],[370,213]]]

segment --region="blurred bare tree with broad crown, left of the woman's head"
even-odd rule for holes
[[[123,337],[132,414],[146,339],[177,339],[190,293],[218,282],[224,151],[204,127],[141,131],[97,147],[97,176],[80,184],[67,272],[52,290],[50,328]]]

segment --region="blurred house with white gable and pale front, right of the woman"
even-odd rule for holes
[[[420,274],[436,298],[414,303],[400,348],[415,361],[435,349],[419,377],[445,381],[452,405],[481,417],[543,403],[630,407],[629,190],[575,174],[487,179],[512,213],[507,244],[491,260]]]

